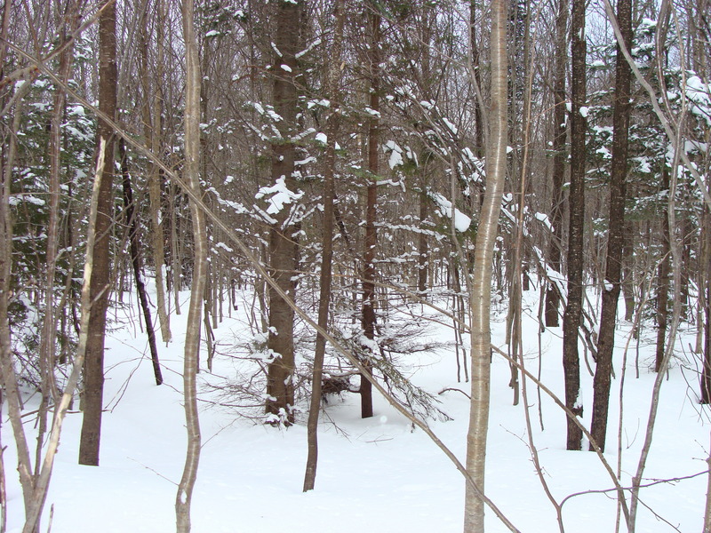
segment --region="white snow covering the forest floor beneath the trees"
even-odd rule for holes
[[[188,293],[184,295],[188,298]],[[539,372],[538,304],[529,294],[523,342],[527,368]],[[129,303],[130,300],[130,303]],[[106,412],[103,419],[100,466],[76,464],[81,414],[68,415],[61,438],[42,530],[52,533],[161,533],[175,530],[174,500],[185,454],[181,404],[185,312],[172,315],[173,341],[160,346],[165,383],[156,386],[145,335],[138,326],[138,305],[129,304],[112,316],[106,364]],[[302,493],[307,455],[305,415],[288,429],[265,426],[220,405],[229,398],[214,386],[234,381],[244,370],[233,346],[251,335],[245,310],[225,318],[215,330],[218,354],[212,373],[201,382],[203,449],[192,506],[196,533],[362,533],[459,532],[462,528],[464,480],[427,435],[376,395],[375,416],[360,418],[357,394],[332,397],[319,427],[316,489]],[[225,306],[227,308],[227,305]],[[419,306],[416,306],[419,309]],[[227,314],[227,310],[225,311]],[[505,310],[498,309],[493,342],[503,346]],[[532,316],[531,316],[532,315]],[[435,325],[432,335],[451,342],[452,332]],[[612,469],[621,457],[622,483],[629,486],[642,449],[655,374],[651,372],[654,331],[643,330],[629,343],[624,375],[624,418],[619,426],[619,386],[630,324],[620,322],[612,383],[608,450]],[[663,382],[659,416],[651,454],[643,473],[652,484],[642,491],[638,532],[701,531],[707,493],[709,412],[698,402],[698,363],[689,352],[695,330],[684,327],[668,378]],[[555,394],[563,393],[561,330],[540,337],[540,376]],[[638,354],[639,378],[635,378]],[[249,363],[254,365],[253,362]],[[450,421],[430,420],[440,439],[464,461],[468,425],[467,383],[457,382],[453,346],[435,353],[408,356],[405,372],[418,386],[435,394]],[[592,365],[593,363],[590,362]],[[531,460],[523,401],[512,405],[510,370],[494,354],[491,374],[491,418],[488,439],[486,493],[524,533],[559,531],[555,509],[542,489]],[[592,378],[581,364],[582,401],[589,426]],[[538,449],[543,479],[563,505],[564,530],[569,533],[615,531],[617,502],[613,484],[594,453],[565,447],[565,418],[555,403],[527,382],[532,437]],[[37,402],[28,394],[26,409]],[[15,472],[12,432],[4,414],[4,464],[8,476],[8,531],[20,531],[23,512]],[[541,420],[545,430],[541,431]],[[27,431],[33,421],[27,419]],[[620,435],[618,438],[618,434]],[[587,442],[584,444],[587,449]],[[695,477],[679,481],[657,482]],[[577,495],[577,496],[572,496]],[[572,496],[572,497],[571,497]],[[567,499],[565,499],[567,497]],[[50,518],[50,513],[52,517]],[[493,513],[487,532],[506,531]],[[622,526],[621,531],[626,528]]]

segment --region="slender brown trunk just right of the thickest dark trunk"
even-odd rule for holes
[[[333,259],[333,198],[335,197],[334,173],[336,170],[336,134],[339,116],[336,104],[340,101],[339,75],[340,58],[343,48],[343,0],[336,0],[333,6],[336,26],[331,47],[331,59],[326,75],[325,96],[331,99],[331,111],[326,123],[326,158],[324,170],[324,235],[321,251],[320,294],[318,300],[318,326],[328,329],[329,303],[331,301],[332,259]],[[318,464],[318,413],[321,410],[321,385],[324,372],[324,354],[326,338],[321,333],[316,335],[316,354],[314,354],[313,382],[311,402],[308,410],[308,457],[304,474],[304,492],[313,490],[316,484],[316,466]]]

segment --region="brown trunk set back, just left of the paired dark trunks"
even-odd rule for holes
[[[563,251],[563,180],[565,177],[565,142],[567,128],[565,126],[565,77],[568,64],[568,0],[558,2],[558,15],[555,20],[555,81],[553,95],[555,100],[553,138],[553,191],[550,222],[553,226],[550,245],[548,246],[548,263],[555,272],[560,273],[561,255]],[[548,286],[546,290],[546,325],[549,328],[557,327],[558,308],[560,307],[560,291],[557,287]]]

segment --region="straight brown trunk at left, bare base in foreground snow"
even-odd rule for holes
[[[108,0],[99,18],[99,109],[116,116],[116,3]],[[80,465],[99,465],[101,410],[104,397],[104,338],[110,293],[110,240],[113,225],[114,131],[99,119],[98,146],[103,162],[96,219],[96,244],[91,278],[92,308],[84,360],[84,420],[79,445]]]

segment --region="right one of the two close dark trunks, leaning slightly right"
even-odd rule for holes
[[[627,49],[632,43],[632,1],[619,0],[617,19]],[[603,287],[600,333],[597,337],[597,365],[593,383],[593,439],[605,449],[607,413],[610,402],[612,351],[625,244],[625,197],[627,188],[627,144],[629,138],[630,82],[632,73],[618,46],[615,71],[615,104],[612,116],[612,163],[610,177],[610,217]],[[592,449],[592,445],[591,445]]]

